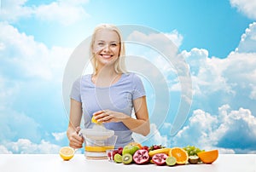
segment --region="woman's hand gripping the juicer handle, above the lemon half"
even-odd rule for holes
[[[80,127],[77,127],[76,131],[68,136],[69,146],[73,147],[74,149],[79,149],[83,147],[84,138],[79,135],[79,131]]]

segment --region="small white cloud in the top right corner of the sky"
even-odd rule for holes
[[[251,19],[256,19],[256,2],[254,0],[230,0],[232,7],[236,7],[241,13]]]

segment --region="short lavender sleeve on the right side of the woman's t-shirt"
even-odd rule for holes
[[[136,100],[137,98],[143,97],[144,95],[146,95],[143,82],[140,77],[137,77],[137,75],[133,74],[132,84],[133,84],[132,100]]]

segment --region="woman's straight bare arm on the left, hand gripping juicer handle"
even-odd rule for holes
[[[83,137],[79,136],[81,118],[82,103],[71,99],[67,138],[69,140],[69,146],[73,148],[81,148],[83,146]]]

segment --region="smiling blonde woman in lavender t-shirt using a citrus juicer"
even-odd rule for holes
[[[91,128],[91,118],[118,135],[116,147],[134,142],[132,132],[149,133],[146,94],[140,77],[125,72],[125,46],[116,26],[97,26],[90,43],[92,74],[73,83],[67,137],[69,145],[80,148],[79,126]],[[131,118],[131,112],[136,118]]]

